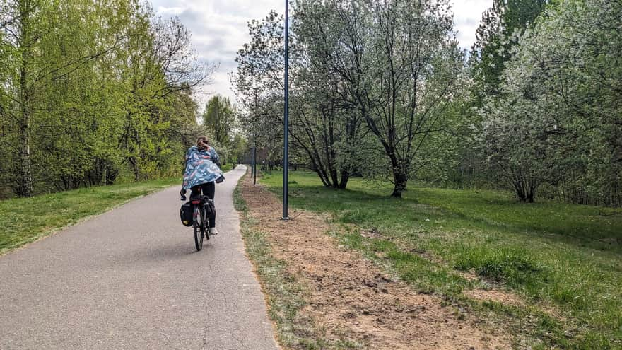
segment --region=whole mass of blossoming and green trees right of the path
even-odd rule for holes
[[[622,205],[621,6],[493,1],[468,57],[447,1],[293,2],[292,151],[324,185],[413,179]],[[283,26],[249,23],[242,128],[280,151]]]

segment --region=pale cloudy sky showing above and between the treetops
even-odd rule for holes
[[[235,52],[248,42],[247,22],[264,18],[268,11],[285,10],[283,0],[151,0],[153,9],[163,17],[178,16],[192,32],[192,43],[199,59],[219,64],[214,83],[206,88],[235,101],[228,74],[235,70]],[[455,29],[460,46],[467,49],[475,40],[475,28],[481,13],[493,0],[452,0]],[[201,104],[209,94],[196,96]]]

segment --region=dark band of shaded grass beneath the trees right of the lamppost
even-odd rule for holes
[[[281,195],[281,187],[270,187]],[[450,197],[447,192],[463,192]],[[484,191],[412,189],[404,198],[390,197],[383,189],[333,189],[317,185],[290,187],[290,204],[313,211],[331,211],[343,223],[391,221],[421,224],[452,221],[454,228],[508,231],[553,242],[622,253],[622,211],[599,216],[599,208],[558,203],[524,204],[504,194]],[[467,194],[464,194],[467,192]],[[464,196],[473,197],[464,199]],[[488,194],[488,195],[487,195]],[[413,198],[414,197],[414,198]],[[605,209],[606,210],[606,209]]]

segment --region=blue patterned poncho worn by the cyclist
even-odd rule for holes
[[[192,146],[186,152],[186,171],[184,171],[184,189],[216,181],[223,175],[223,170],[214,162],[218,161],[218,153],[213,147],[199,150]]]

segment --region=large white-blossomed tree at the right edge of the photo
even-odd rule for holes
[[[621,15],[617,2],[560,1],[521,37],[486,104],[493,129],[511,128],[493,133],[509,146],[495,163],[528,168],[570,202],[622,203]]]

